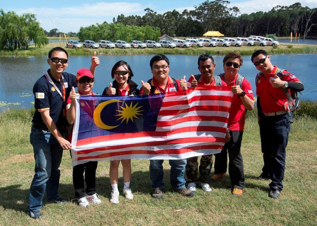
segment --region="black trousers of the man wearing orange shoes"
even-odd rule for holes
[[[215,154],[215,174],[227,172],[227,153],[229,156],[229,177],[233,188],[243,189],[244,170],[241,155],[243,131],[230,131],[230,141],[225,143],[221,152]]]

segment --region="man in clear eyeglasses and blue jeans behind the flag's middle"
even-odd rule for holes
[[[150,67],[153,78],[142,83],[140,94],[148,95],[153,93],[165,93],[177,91],[180,87],[179,80],[168,75],[170,71],[170,61],[163,54],[157,54],[150,60]],[[152,181],[152,197],[162,199],[164,181],[163,181],[163,161],[150,160],[150,179]],[[187,197],[192,197],[195,191],[187,190],[185,187],[185,166],[186,159],[169,160],[171,166],[171,186],[174,192]]]

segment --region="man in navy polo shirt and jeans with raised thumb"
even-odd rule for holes
[[[90,71],[94,74],[99,59],[91,58]],[[35,175],[29,191],[30,217],[41,218],[40,208],[46,189],[48,201],[62,204],[66,200],[58,194],[63,150],[71,148],[65,140],[64,124],[66,122],[66,100],[75,86],[75,75],[64,72],[68,66],[68,53],[61,47],[49,51],[47,63],[50,69],[39,78],[34,87],[34,107],[36,109],[30,134],[35,159]]]

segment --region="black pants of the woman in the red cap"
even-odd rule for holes
[[[96,169],[98,161],[90,161],[74,166],[73,168],[73,184],[75,188],[76,198],[83,198],[87,195],[96,193]],[[86,193],[84,190],[84,172],[85,182],[87,185]]]

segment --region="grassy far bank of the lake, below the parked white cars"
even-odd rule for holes
[[[34,45],[30,45],[28,50],[15,50],[15,51],[0,51],[0,56],[42,56],[48,55],[49,50],[53,47],[63,47],[67,49],[69,55],[92,55],[94,51],[97,52],[97,55],[154,55],[154,54],[184,54],[184,55],[200,55],[204,53],[209,53],[212,55],[222,56],[226,55],[230,52],[238,52],[241,55],[252,55],[256,50],[264,49],[268,52],[268,54],[301,54],[301,53],[317,53],[317,45],[309,45],[309,44],[288,44],[288,43],[280,43],[278,47],[272,46],[241,46],[241,47],[189,47],[189,48],[144,48],[144,49],[87,49],[87,48],[66,48],[63,43],[49,43],[47,46],[38,48]]]

